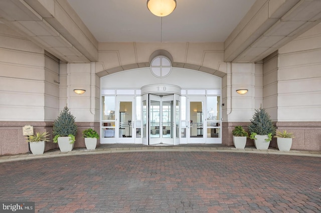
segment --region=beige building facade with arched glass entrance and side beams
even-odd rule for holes
[[[28,152],[22,127],[52,132],[66,104],[75,147],[88,127],[100,143],[232,145],[263,107],[292,149],[321,150],[318,0],[258,0],[225,42],[205,43],[98,42],[67,1],[50,2],[0,6],[0,155]]]

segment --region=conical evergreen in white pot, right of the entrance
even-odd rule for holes
[[[254,139],[257,149],[268,149],[272,135],[275,134],[275,126],[270,119],[270,115],[264,108],[255,109],[255,113],[248,126],[250,138]]]

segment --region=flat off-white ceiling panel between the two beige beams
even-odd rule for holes
[[[177,0],[161,18],[146,1],[68,0],[99,42],[223,42],[255,2]]]

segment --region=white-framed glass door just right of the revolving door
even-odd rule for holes
[[[188,115],[189,115],[189,130],[188,142],[190,143],[205,143],[206,135],[204,135],[204,111],[205,111],[205,96],[189,96],[188,97]]]

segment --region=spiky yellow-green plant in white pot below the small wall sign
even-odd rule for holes
[[[33,154],[43,154],[46,148],[46,141],[49,141],[47,138],[49,132],[36,132],[36,134],[28,135],[27,142],[29,142],[30,150]]]

